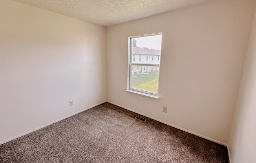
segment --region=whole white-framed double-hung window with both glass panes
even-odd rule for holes
[[[161,44],[162,33],[128,38],[127,91],[158,98]],[[137,57],[139,61],[135,60]]]

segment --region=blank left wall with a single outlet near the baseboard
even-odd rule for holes
[[[105,28],[0,0],[0,74],[1,143],[106,100]]]

